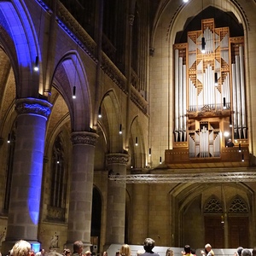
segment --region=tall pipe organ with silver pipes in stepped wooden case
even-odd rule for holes
[[[243,37],[230,38],[229,27],[216,28],[214,19],[174,44],[173,148],[189,147],[190,158],[219,157],[225,139],[247,143],[243,49]]]

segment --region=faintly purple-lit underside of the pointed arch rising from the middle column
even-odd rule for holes
[[[77,51],[68,52],[59,61],[55,67],[53,84],[67,104],[72,131],[90,131],[92,127],[90,90],[84,65]]]

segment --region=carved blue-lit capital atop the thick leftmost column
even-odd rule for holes
[[[15,110],[18,114],[34,113],[42,115],[45,118],[49,117],[52,104],[37,98],[21,98],[15,102]]]

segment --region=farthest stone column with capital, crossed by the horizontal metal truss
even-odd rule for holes
[[[127,154],[108,154],[108,170],[113,174],[126,174]],[[125,242],[125,189],[126,183],[108,180],[106,245]]]

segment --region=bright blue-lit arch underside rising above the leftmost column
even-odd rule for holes
[[[17,97],[37,97],[39,92],[39,73],[33,71],[35,61],[41,60],[32,20],[28,15],[26,4],[14,0],[0,3],[0,17],[2,20],[2,44],[9,55],[15,73]],[[22,36],[20,36],[22,34]],[[27,55],[27,53],[30,53]],[[26,76],[21,73],[26,73]],[[30,86],[37,84],[37,86]]]

